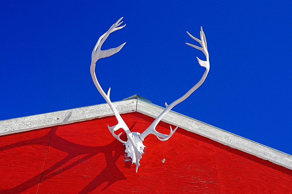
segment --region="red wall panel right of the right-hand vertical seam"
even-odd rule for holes
[[[292,171],[214,142],[222,193],[292,193]]]

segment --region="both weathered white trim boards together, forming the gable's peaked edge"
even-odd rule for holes
[[[156,118],[164,108],[140,99],[123,100],[113,103],[120,114],[140,112]],[[0,121],[0,135],[18,133],[55,125],[86,121],[90,119],[114,115],[107,104],[63,110],[45,114],[38,114],[16,119]],[[239,149],[272,163],[292,170],[292,156],[265,145],[253,142],[225,130],[197,121],[177,112],[170,111],[161,120],[169,124],[179,125],[192,133],[197,133],[229,147]]]

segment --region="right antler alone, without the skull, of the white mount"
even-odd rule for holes
[[[173,103],[171,103],[170,105],[167,105],[167,103],[165,103],[165,106],[166,108],[162,111],[162,113],[153,121],[153,123],[141,134],[139,135],[140,139],[141,140],[144,140],[144,138],[149,135],[149,134],[154,134],[157,136],[157,138],[161,141],[165,141],[165,140],[168,140],[171,135],[173,135],[173,133],[175,132],[175,130],[178,128],[178,125],[177,127],[172,130],[172,128],[170,127],[170,134],[169,135],[165,135],[165,134],[162,134],[162,133],[159,133],[155,130],[157,124],[159,123],[159,121],[175,106],[177,105],[178,103],[182,102],[183,100],[185,100],[187,97],[189,97],[206,79],[207,75],[208,75],[208,72],[209,72],[209,69],[210,69],[210,63],[209,63],[209,53],[208,53],[208,50],[207,50],[207,41],[206,41],[206,36],[205,36],[205,33],[201,27],[201,31],[200,31],[200,38],[201,40],[195,38],[194,36],[192,36],[189,32],[187,32],[188,35],[193,38],[194,40],[196,40],[197,42],[200,43],[200,45],[202,47],[198,47],[196,45],[192,45],[190,43],[186,43],[187,45],[190,45],[196,49],[199,49],[201,50],[205,56],[206,56],[206,61],[202,61],[201,59],[199,59],[197,57],[197,60],[200,64],[200,66],[202,67],[205,67],[206,68],[206,71],[204,73],[204,75],[202,76],[201,80],[196,84],[194,85],[194,87],[192,87],[185,95],[183,95],[182,97],[178,98],[177,100],[175,100]],[[159,138],[161,137],[161,138]]]

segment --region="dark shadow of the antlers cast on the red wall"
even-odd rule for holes
[[[133,128],[134,125],[135,125],[135,123],[133,124],[133,126],[131,128]],[[32,186],[39,184],[40,177],[41,177],[41,181],[45,181],[47,179],[50,179],[51,177],[56,176],[56,175],[66,171],[66,170],[69,170],[72,167],[80,164],[83,161],[88,160],[89,158],[91,158],[99,153],[104,154],[105,160],[106,160],[106,167],[87,186],[85,186],[84,189],[82,189],[81,193],[93,191],[95,188],[97,188],[101,184],[108,182],[107,186],[105,186],[105,188],[102,189],[102,191],[103,191],[106,188],[108,188],[110,185],[115,183],[116,181],[127,179],[124,176],[124,174],[119,170],[117,165],[115,164],[120,156],[124,156],[126,158],[125,152],[122,149],[123,145],[120,144],[120,142],[118,140],[114,140],[113,142],[111,142],[105,146],[86,146],[86,145],[81,145],[81,144],[69,142],[69,141],[65,140],[64,138],[58,136],[56,134],[57,129],[58,129],[58,127],[55,126],[46,135],[43,135],[41,137],[37,137],[37,138],[29,139],[29,140],[24,140],[21,142],[17,142],[17,143],[13,143],[13,144],[9,144],[9,145],[0,147],[0,151],[5,151],[8,149],[21,147],[21,146],[25,146],[25,145],[32,145],[32,144],[40,144],[40,145],[48,146],[48,142],[44,143],[45,142],[44,139],[48,139],[49,137],[51,137],[51,138],[54,138],[54,141],[58,142],[58,144],[57,145],[49,144],[49,146],[68,154],[61,161],[52,165],[51,167],[49,167],[48,169],[44,170],[43,172],[37,174],[36,176],[32,177],[31,179],[28,179],[27,181],[23,182],[22,184],[20,184],[18,186],[15,186],[14,188],[0,190],[0,193],[15,193],[15,191],[23,192],[23,191],[31,188]],[[63,145],[66,145],[66,146],[63,146]],[[114,156],[112,155],[113,151],[114,151]],[[84,155],[84,154],[87,154],[87,155],[80,158],[79,160],[69,164],[69,165],[66,165],[65,167],[62,167],[63,165],[65,165],[67,162],[69,162],[73,158],[76,158],[76,157]],[[127,160],[125,160],[124,167],[128,167],[129,165],[131,165],[131,163],[129,163],[129,162],[127,162]],[[62,167],[62,168],[60,168],[60,167]],[[49,175],[49,176],[46,176],[46,175]]]

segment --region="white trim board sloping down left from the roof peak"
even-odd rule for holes
[[[135,112],[137,107],[137,99],[114,102],[113,105],[117,107],[117,111],[120,114]],[[28,117],[20,117],[16,119],[8,119],[0,121],[0,135],[74,123],[78,121],[86,121],[112,115],[114,115],[114,113],[109,108],[108,104],[100,104],[62,110],[58,112],[37,114]]]

